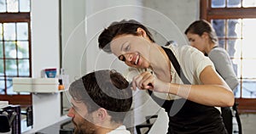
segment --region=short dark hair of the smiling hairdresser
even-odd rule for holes
[[[136,20],[121,20],[119,22],[113,22],[108,26],[108,28],[105,28],[104,31],[102,31],[98,38],[99,47],[103,51],[111,53],[110,42],[113,40],[113,37],[123,34],[138,36],[137,28],[142,28],[144,31],[146,31],[150,41],[154,42],[153,36],[148,31],[146,26],[140,24]]]

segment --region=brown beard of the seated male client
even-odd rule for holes
[[[75,126],[73,134],[96,134],[96,126],[90,121],[74,122]]]

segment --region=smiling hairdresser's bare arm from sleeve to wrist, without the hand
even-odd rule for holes
[[[211,66],[207,66],[201,72],[200,79],[204,85],[189,86],[169,83],[169,93],[210,106],[227,107],[234,104],[235,98],[230,87]]]

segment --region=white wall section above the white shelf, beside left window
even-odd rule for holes
[[[58,0],[32,1],[32,77],[60,66],[58,14]]]

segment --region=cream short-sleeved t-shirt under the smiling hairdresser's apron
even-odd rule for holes
[[[201,85],[200,81],[201,71],[204,70],[207,66],[211,66],[213,70],[215,70],[214,65],[212,64],[211,59],[206,57],[201,51],[197,50],[195,47],[191,47],[189,45],[184,45],[181,47],[168,46],[172,50],[172,53],[176,56],[177,62],[180,64],[183,74],[189,80],[191,85]],[[183,81],[177,75],[176,70],[171,63],[171,75],[172,81],[171,83],[183,84]],[[154,95],[158,98],[172,100],[177,99],[176,95],[162,93],[162,92],[154,92]]]

